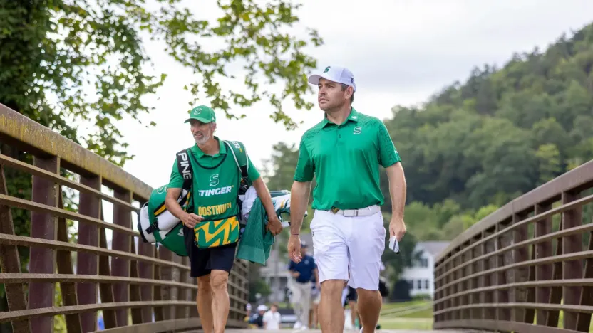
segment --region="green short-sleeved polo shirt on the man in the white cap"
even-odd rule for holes
[[[295,181],[316,175],[313,209],[358,209],[383,205],[379,165],[401,162],[387,128],[352,108],[340,125],[324,118],[301,137]]]

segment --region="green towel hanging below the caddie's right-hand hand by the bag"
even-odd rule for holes
[[[274,236],[266,230],[267,213],[259,198],[253,202],[247,226],[239,241],[237,258],[249,260],[252,263],[265,265],[269,258],[269,251],[274,244]]]

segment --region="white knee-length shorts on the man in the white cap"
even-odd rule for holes
[[[386,235],[380,211],[349,217],[316,210],[311,233],[319,282],[349,280],[353,288],[378,290]]]

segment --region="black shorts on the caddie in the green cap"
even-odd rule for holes
[[[208,275],[212,270],[224,270],[230,273],[237,243],[217,248],[197,248],[194,243],[193,230],[187,227],[183,228],[183,238],[187,254],[190,257],[191,277]]]

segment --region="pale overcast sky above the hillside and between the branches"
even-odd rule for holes
[[[217,17],[215,0],[197,2],[187,3],[200,17]],[[319,68],[343,65],[352,70],[358,88],[354,107],[384,119],[394,105],[423,102],[445,85],[464,81],[475,65],[503,65],[515,51],[544,49],[562,33],[582,28],[593,21],[593,1],[309,0],[298,16],[324,38],[324,46],[311,50]],[[134,122],[120,127],[135,155],[124,169],[153,187],[168,182],[175,152],[193,144],[189,125],[183,123],[191,97],[182,88],[197,78],[163,48],[163,43],[145,41],[156,69],[169,75],[157,95],[147,98],[156,107],[148,117],[157,127],[145,129]],[[316,102],[313,94],[306,98]],[[272,144],[299,142],[321,120],[317,105],[309,112],[284,105],[289,115],[305,121],[294,132],[274,124],[268,117],[273,108],[259,102],[242,110],[244,120],[227,120],[218,113],[217,135],[244,142],[260,168]]]

